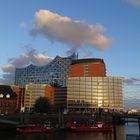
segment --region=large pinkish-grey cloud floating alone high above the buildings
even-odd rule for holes
[[[71,51],[83,46],[105,50],[111,43],[111,39],[104,35],[105,31],[101,24],[90,25],[85,21],[72,20],[48,10],[40,10],[35,14],[31,35],[43,35],[52,42],[67,44]]]

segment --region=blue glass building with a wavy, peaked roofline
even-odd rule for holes
[[[16,68],[15,85],[21,88],[29,83],[66,87],[68,67],[74,59],[77,59],[76,54],[69,57],[56,56],[52,62],[45,66],[31,64],[25,68]]]

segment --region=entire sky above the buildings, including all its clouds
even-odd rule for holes
[[[126,106],[140,107],[140,0],[0,0],[0,84],[73,52],[104,59]]]

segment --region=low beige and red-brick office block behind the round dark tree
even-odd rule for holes
[[[67,88],[48,84],[27,84],[24,95],[25,111],[31,111],[39,97],[47,97],[54,109],[66,108]]]

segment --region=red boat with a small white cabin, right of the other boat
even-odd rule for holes
[[[72,125],[70,130],[72,132],[110,132],[112,131],[112,125],[96,122],[94,125]]]

